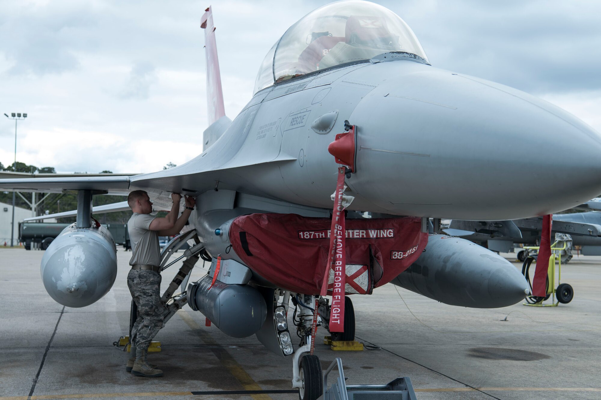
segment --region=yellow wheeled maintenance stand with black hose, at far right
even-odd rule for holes
[[[561,250],[566,249],[566,242],[564,242],[563,247],[555,247],[557,244],[557,240],[555,243],[551,245],[551,257],[549,257],[549,269],[547,271],[547,295],[545,297],[538,296],[528,296],[526,297],[526,303],[523,303],[525,306],[535,306],[535,307],[557,307],[560,303],[567,304],[572,301],[574,298],[574,289],[567,283],[561,283]],[[540,246],[524,246],[526,251],[529,250],[539,250]],[[528,255],[524,260],[522,265],[522,274],[528,280],[528,285],[530,286],[530,291],[532,292],[532,283],[530,282],[530,265],[532,261],[534,261],[534,256]],[[557,268],[555,268],[555,261],[558,261]],[[555,270],[557,269],[557,284],[555,286]],[[543,304],[545,300],[551,298],[550,304]],[[557,302],[555,302],[557,298]]]

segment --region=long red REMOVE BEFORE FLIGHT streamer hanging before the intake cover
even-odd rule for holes
[[[338,183],[332,212],[332,226],[330,235],[330,251],[328,264],[323,274],[321,295],[328,294],[328,280],[330,268],[334,269],[334,285],[332,286],[332,307],[330,311],[329,331],[344,332],[344,286],[346,284],[346,249],[344,247],[344,207],[342,198],[344,193],[344,173],[346,168],[338,168]]]

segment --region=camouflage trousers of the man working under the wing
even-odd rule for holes
[[[130,342],[138,350],[146,350],[159,330],[165,326],[165,304],[160,301],[159,273],[148,270],[130,270],[127,287],[138,306],[138,318],[133,324]]]

